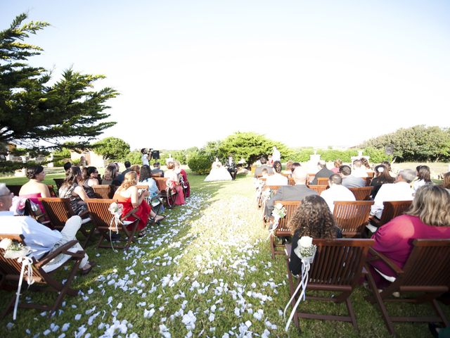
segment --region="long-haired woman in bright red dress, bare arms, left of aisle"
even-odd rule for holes
[[[114,194],[113,199],[122,204],[124,210],[122,216],[129,213],[129,211],[136,208],[134,214],[140,218],[138,224],[139,235],[143,235],[144,229],[147,226],[148,216],[155,218],[155,220],[162,220],[164,217],[160,215],[155,215],[151,207],[146,202],[146,196],[150,193],[147,189],[138,189],[137,184],[137,174],[134,171],[129,171],[125,174],[124,182],[120,185]],[[134,220],[133,216],[129,216],[126,220]]]

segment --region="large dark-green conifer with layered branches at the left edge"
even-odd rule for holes
[[[27,58],[41,53],[39,46],[23,42],[48,23],[24,23],[18,15],[11,27],[0,32],[0,143],[14,142],[28,149],[58,148],[76,137],[83,148],[115,122],[101,122],[110,115],[108,99],[117,96],[109,87],[94,90],[103,75],[65,70],[61,80],[49,86],[50,73],[31,67]],[[42,142],[46,142],[45,145]],[[40,143],[39,143],[40,142]]]

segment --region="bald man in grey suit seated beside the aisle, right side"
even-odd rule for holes
[[[275,201],[302,201],[308,195],[317,195],[312,189],[306,186],[307,172],[302,167],[297,167],[293,173],[295,185],[284,185],[276,192],[271,199],[267,200],[264,215],[266,219],[270,218],[272,211],[274,211]]]

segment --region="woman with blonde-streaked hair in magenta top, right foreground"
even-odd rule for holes
[[[414,173],[413,170],[411,172]],[[381,190],[378,194],[380,193]],[[450,195],[444,188],[437,185],[420,187],[409,211],[382,225],[373,234],[373,249],[383,253],[399,268],[403,268],[413,248],[413,239],[450,238],[449,206]],[[390,284],[379,273],[387,277],[397,277],[383,261],[371,261],[371,267],[371,273],[379,288]]]

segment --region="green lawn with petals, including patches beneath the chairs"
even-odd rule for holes
[[[0,321],[0,336],[110,337],[115,332],[115,337],[288,337],[280,315],[289,299],[285,261],[270,258],[252,179],[203,179],[189,175],[192,196],[187,205],[167,211],[163,224],[150,228],[129,251],[89,245],[97,267],[77,277],[73,285],[79,296],[66,296],[51,319],[20,308],[15,322],[11,313]],[[369,294],[363,287],[352,294],[359,331],[349,323],[300,320],[302,337],[390,337],[378,308],[364,299]],[[4,304],[12,296],[0,292]],[[20,301],[27,297],[54,299],[26,292]],[[346,311],[343,304],[307,301],[300,306],[311,313]],[[425,304],[388,308],[397,315],[432,314]],[[255,315],[258,311],[261,318]],[[450,315],[449,307],[444,311]],[[396,324],[395,329],[399,337],[429,336],[423,323]],[[289,334],[299,337],[294,325]]]

